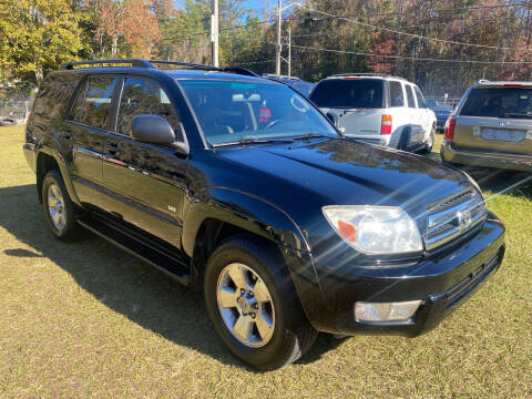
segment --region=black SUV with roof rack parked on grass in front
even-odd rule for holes
[[[263,370],[317,331],[427,331],[504,254],[467,174],[346,139],[244,70],[69,63],[39,91],[24,153],[58,238],[81,225],[202,288],[222,340]]]

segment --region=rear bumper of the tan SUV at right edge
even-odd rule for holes
[[[443,162],[449,163],[532,172],[532,154],[461,149],[448,141],[441,144],[440,154]]]

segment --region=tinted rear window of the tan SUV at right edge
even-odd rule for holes
[[[532,119],[532,89],[485,88],[471,90],[461,115]]]

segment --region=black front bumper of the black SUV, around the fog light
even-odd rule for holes
[[[346,265],[335,269],[324,257],[315,266],[320,289],[297,282],[296,287],[313,326],[320,331],[391,334],[415,337],[434,328],[501,265],[504,226],[492,214],[472,238],[443,253],[405,265]],[[294,274],[293,274],[294,277]],[[301,289],[304,287],[304,289]],[[358,321],[355,304],[422,300],[406,321]]]

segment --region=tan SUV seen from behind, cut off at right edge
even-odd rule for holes
[[[441,158],[532,172],[532,82],[469,88],[447,121]]]

